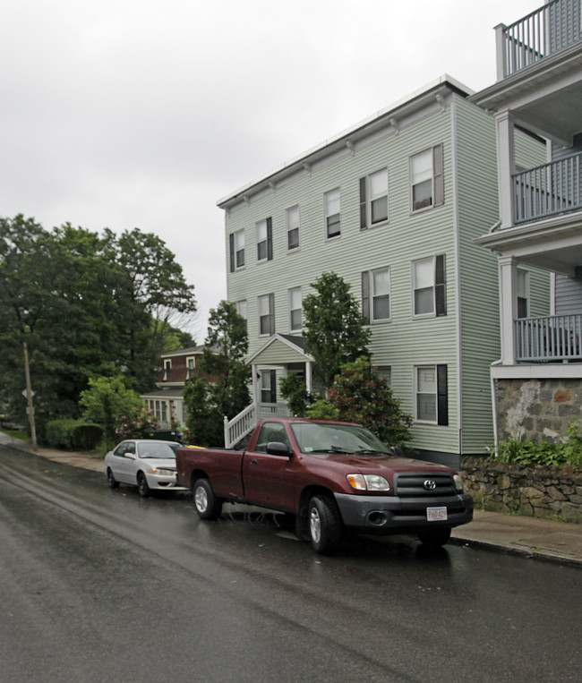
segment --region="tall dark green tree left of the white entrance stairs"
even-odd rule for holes
[[[206,446],[223,440],[223,421],[251,402],[251,369],[244,363],[248,351],[246,322],[233,303],[222,301],[210,310],[208,335],[198,367],[204,376],[188,380],[184,405],[186,428],[194,442]]]

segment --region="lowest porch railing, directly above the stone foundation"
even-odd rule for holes
[[[582,315],[515,321],[517,360],[523,363],[582,361]]]

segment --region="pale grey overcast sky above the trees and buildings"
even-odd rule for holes
[[[0,215],[159,235],[227,294],[216,202],[448,73],[543,0],[3,0]]]

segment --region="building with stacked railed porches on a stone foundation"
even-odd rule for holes
[[[559,439],[582,410],[581,21],[580,0],[552,0],[497,26],[497,81],[471,98],[497,128],[501,220],[479,243],[499,255],[500,439]],[[548,141],[542,164],[518,158],[524,129]],[[532,266],[551,274],[551,314],[533,301]]]

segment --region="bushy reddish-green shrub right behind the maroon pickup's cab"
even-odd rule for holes
[[[388,382],[365,357],[342,365],[327,401],[313,404],[307,414],[362,424],[389,446],[412,440],[412,417],[401,410]]]

